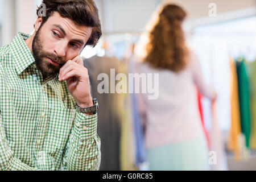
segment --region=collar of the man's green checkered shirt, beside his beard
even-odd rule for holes
[[[35,62],[34,56],[24,41],[29,37],[30,35],[19,32],[10,44],[11,53],[13,54],[15,61],[14,65],[18,75]]]

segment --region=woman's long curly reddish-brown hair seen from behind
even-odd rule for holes
[[[188,49],[181,23],[186,13],[176,5],[166,5],[152,27],[144,62],[152,68],[182,71],[187,65]]]

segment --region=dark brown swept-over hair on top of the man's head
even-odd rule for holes
[[[42,15],[42,25],[54,12],[57,12],[63,18],[69,18],[79,26],[92,27],[92,35],[85,46],[96,46],[102,32],[98,9],[93,0],[43,0],[42,3],[46,7],[46,14],[45,16]],[[44,6],[41,5],[40,7]],[[36,10],[38,16],[40,16],[39,10],[38,7]]]

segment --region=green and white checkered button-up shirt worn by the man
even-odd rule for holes
[[[65,81],[43,81],[19,33],[0,48],[0,169],[98,170],[97,114],[75,109]]]

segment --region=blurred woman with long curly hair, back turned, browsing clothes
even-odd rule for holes
[[[138,97],[150,170],[209,170],[197,88],[213,101],[216,93],[205,85],[200,63],[185,45],[185,11],[166,5],[158,16],[137,67],[139,73],[159,73],[159,98]]]

